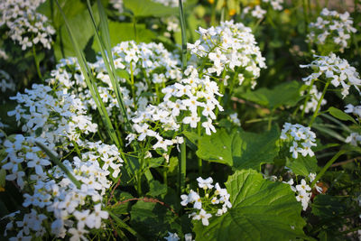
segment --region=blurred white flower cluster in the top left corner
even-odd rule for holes
[[[36,12],[42,0],[5,0],[0,3],[0,26],[6,25],[7,35],[22,46],[22,50],[42,43],[51,49],[51,35],[55,33],[48,18]]]

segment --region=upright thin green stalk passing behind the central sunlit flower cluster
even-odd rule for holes
[[[180,30],[181,30],[181,69],[184,76],[184,70],[187,67],[187,35],[186,35],[186,23],[183,13],[183,3],[179,0],[180,11]],[[183,126],[181,128],[183,131]],[[179,163],[179,193],[185,189],[187,174],[187,153],[186,153],[186,140],[184,136],[184,142],[180,144],[180,163]]]

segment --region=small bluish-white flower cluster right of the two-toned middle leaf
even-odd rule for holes
[[[290,153],[292,153],[293,158],[296,159],[298,157],[298,153],[301,153],[302,156],[314,155],[310,148],[311,146],[317,145],[315,143],[316,134],[310,130],[310,127],[305,127],[300,124],[292,125],[286,122],[283,125],[280,138],[292,143]]]

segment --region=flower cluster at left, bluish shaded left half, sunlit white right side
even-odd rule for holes
[[[79,143],[80,132],[97,132],[97,124],[91,122],[86,107],[74,95],[62,90],[54,93],[50,87],[37,84],[25,93],[10,97],[19,105],[8,112],[22,125],[23,132],[35,136],[40,128],[40,136],[50,143],[64,143],[64,138]]]

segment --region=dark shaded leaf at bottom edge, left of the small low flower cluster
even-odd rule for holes
[[[147,240],[161,240],[170,230],[180,233],[178,217],[159,203],[138,200],[130,215],[132,227]]]

